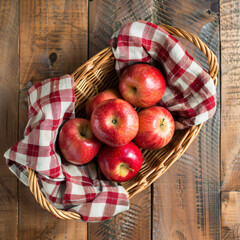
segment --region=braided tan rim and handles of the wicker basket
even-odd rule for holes
[[[215,54],[210,50],[210,48],[196,35],[183,30],[179,27],[173,27],[169,25],[159,25],[162,27],[165,31],[167,31],[171,35],[175,35],[178,37],[182,37],[191,43],[193,43],[199,50],[203,52],[203,54],[208,59],[208,73],[212,77],[215,87],[217,87],[217,74],[219,71],[219,65],[217,62],[217,57]],[[96,55],[91,57],[88,61],[86,61],[84,64],[82,64],[79,68],[77,68],[72,74],[71,77],[75,77],[78,75],[78,72],[83,69],[83,71],[87,72],[88,64],[96,61],[99,56],[108,56],[111,57],[113,55],[111,47],[107,47],[103,49],[102,51],[98,52]],[[100,65],[100,64],[99,64]],[[98,67],[98,66],[96,66]],[[79,76],[78,76],[79,77]],[[75,79],[75,78],[74,78]],[[77,82],[75,82],[74,87],[77,85]],[[129,184],[122,184],[128,194],[128,198],[132,198],[137,193],[143,191],[145,188],[147,188],[149,185],[151,185],[156,179],[158,179],[162,174],[164,174],[171,166],[174,164],[187,150],[188,146],[193,142],[193,140],[198,135],[199,131],[201,130],[203,126],[203,123],[197,126],[190,127],[186,134],[184,135],[181,142],[175,147],[174,153],[173,150],[166,156],[166,161],[170,161],[171,163],[167,166],[164,166],[163,164],[160,164],[158,167],[153,169],[152,172],[148,173],[145,178],[141,179],[141,181],[134,183],[130,186]],[[41,192],[38,181],[37,181],[37,175],[36,172],[30,168],[27,168],[29,172],[29,189],[34,195],[36,201],[41,205],[42,208],[46,209],[47,211],[54,214],[57,218],[65,219],[65,220],[81,220],[81,216],[78,213],[60,210],[55,208],[49,201],[45,198],[44,194]],[[155,176],[152,177],[152,173],[155,173]],[[128,181],[131,183],[131,180]],[[127,183],[128,183],[127,182]]]

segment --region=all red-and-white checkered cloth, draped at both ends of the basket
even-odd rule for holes
[[[168,108],[176,128],[200,124],[215,111],[211,77],[181,43],[157,25],[139,21],[117,31],[111,45],[120,74],[136,62],[159,62],[167,89],[159,105]],[[124,188],[103,180],[95,161],[84,166],[67,163],[57,149],[61,125],[74,118],[74,89],[70,76],[42,81],[28,91],[29,115],[24,139],[5,154],[9,169],[28,186],[26,167],[37,173],[41,191],[58,209],[77,212],[84,221],[100,221],[125,211]]]

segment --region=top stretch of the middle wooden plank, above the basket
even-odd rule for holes
[[[108,47],[112,34],[124,24],[140,19],[150,22],[152,18],[149,0],[94,0],[89,6],[90,56]]]

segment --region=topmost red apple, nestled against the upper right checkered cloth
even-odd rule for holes
[[[166,82],[156,67],[148,64],[134,64],[120,76],[119,91],[122,97],[136,107],[151,107],[163,96]]]

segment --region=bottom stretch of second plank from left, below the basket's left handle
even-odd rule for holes
[[[87,224],[57,219],[36,203],[29,188],[21,186],[19,198],[19,240],[86,240]]]

